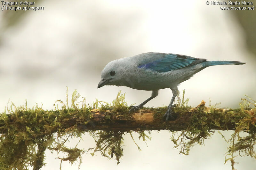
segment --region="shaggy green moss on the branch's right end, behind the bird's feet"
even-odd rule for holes
[[[235,169],[234,164],[236,162],[234,158],[237,152],[240,156],[247,155],[256,159],[256,152],[254,151],[256,138],[255,128],[253,128],[256,122],[256,101],[248,96],[246,97],[248,99],[242,99],[239,103],[240,108],[229,109],[225,112],[216,108],[218,104],[214,106],[210,104],[209,112],[206,112],[203,108],[197,108],[197,111],[192,113],[186,130],[172,132],[170,139],[175,144],[174,148],[180,148],[180,154],[187,155],[192,146],[202,145],[205,139],[211,138],[211,135],[214,134],[214,131],[211,130],[212,127],[228,130],[228,124],[233,122],[236,124],[236,128],[230,139],[227,140],[218,131],[224,140],[230,144],[226,153],[225,164],[230,160],[232,169]],[[254,108],[250,108],[250,105],[253,105]],[[186,109],[184,112],[186,112]],[[243,137],[240,136],[241,134],[243,134]]]

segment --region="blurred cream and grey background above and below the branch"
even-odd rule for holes
[[[9,99],[16,106],[27,99],[28,107],[43,103],[43,109],[53,109],[55,100],[65,101],[66,86],[69,96],[77,89],[87,103],[96,98],[111,102],[122,90],[129,105],[140,104],[151,92],[116,86],[97,89],[97,85],[108,62],[145,52],[247,62],[206,68],[179,90],[186,90],[191,106],[201,100],[209,106],[211,98],[212,104],[221,102],[219,107],[237,108],[245,94],[255,100],[255,10],[223,11],[221,5],[205,2],[37,0],[34,6],[44,6],[44,11],[0,11],[0,112]],[[256,4],[251,2],[249,7]],[[171,97],[170,89],[160,90],[145,106],[168,105]],[[224,134],[230,138],[231,131]],[[118,166],[116,160],[98,153],[94,157],[84,154],[80,168],[231,169],[230,162],[224,164],[228,144],[218,133],[202,147],[193,147],[188,156],[172,149],[169,136],[167,131],[153,131],[148,147],[136,140],[139,152],[126,135]],[[94,147],[94,141],[84,135],[79,147]],[[59,168],[55,154],[47,152],[46,157],[42,170]],[[255,169],[256,161],[250,157],[235,160],[237,169]],[[78,164],[63,162],[62,169],[78,169]]]

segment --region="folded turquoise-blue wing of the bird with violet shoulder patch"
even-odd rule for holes
[[[156,53],[155,55],[162,55],[162,57],[152,62],[141,63],[138,65],[138,67],[154,70],[157,72],[166,72],[207,61],[207,59],[194,58],[187,55],[163,53]]]

